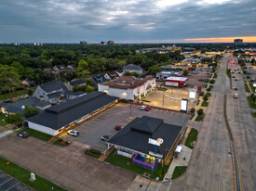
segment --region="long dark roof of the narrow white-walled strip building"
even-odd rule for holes
[[[27,121],[58,130],[98,108],[114,102],[116,99],[117,97],[108,96],[103,92],[92,92],[60,105],[47,108],[44,113],[29,118]]]

